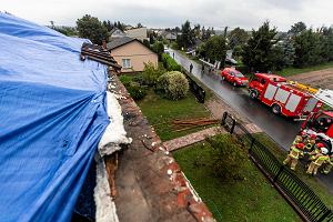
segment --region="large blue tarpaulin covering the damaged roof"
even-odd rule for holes
[[[107,68],[82,43],[0,13],[0,221],[70,221],[109,124]]]

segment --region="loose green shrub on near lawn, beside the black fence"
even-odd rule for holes
[[[244,180],[246,151],[229,135],[219,135],[206,140],[212,148],[211,168],[218,178],[225,181]]]

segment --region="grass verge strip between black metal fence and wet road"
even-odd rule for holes
[[[283,151],[279,145],[263,133],[256,133],[254,137],[264,144],[281,162],[286,157],[286,151]],[[333,206],[332,193],[326,190],[326,188],[321,184],[315,176],[307,175],[305,169],[299,163],[296,167],[296,175],[305,182],[319,196],[320,199],[330,208]]]

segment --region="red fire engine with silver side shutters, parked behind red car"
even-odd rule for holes
[[[249,94],[252,99],[259,99],[270,105],[275,114],[294,119],[302,119],[320,110],[323,103],[313,97],[316,91],[269,73],[255,73],[249,83]]]

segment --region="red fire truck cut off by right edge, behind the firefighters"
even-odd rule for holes
[[[333,108],[333,90],[319,90],[314,98]],[[307,134],[316,134],[317,141],[322,142],[333,152],[333,111],[317,111],[311,113],[302,124],[302,131]]]

